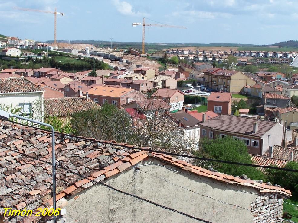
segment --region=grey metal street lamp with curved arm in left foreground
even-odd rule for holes
[[[54,210],[56,210],[56,162],[55,162],[55,133],[54,133],[54,127],[51,126],[50,124],[39,122],[39,121],[32,120],[32,119],[27,119],[25,117],[15,115],[15,114],[3,111],[3,110],[0,110],[0,117],[4,118],[4,119],[9,119],[10,117],[14,117],[14,118],[26,120],[26,121],[29,121],[29,122],[33,122],[33,123],[36,123],[36,124],[39,124],[39,125],[42,125],[42,126],[47,126],[47,127],[51,128],[51,130],[52,130],[53,208],[54,208]],[[56,216],[54,216],[53,221],[54,221],[54,223],[56,223]]]

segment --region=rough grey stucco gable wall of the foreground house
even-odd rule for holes
[[[153,165],[139,166],[139,168],[196,193],[249,210],[220,203],[135,169],[116,175],[117,177],[110,179],[107,184],[207,221],[253,222],[250,209],[251,202],[257,199],[257,194],[236,191],[241,188],[228,184],[221,185],[217,181],[215,181],[216,184],[211,183],[212,180],[209,178],[192,175],[166,165],[179,171],[174,172],[155,165],[161,163],[154,159],[143,161],[141,165],[149,163]],[[246,191],[256,192],[252,188],[247,188]],[[68,199],[65,207],[67,222],[198,222],[101,185],[93,185],[79,195]]]

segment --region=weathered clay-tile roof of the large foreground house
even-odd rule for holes
[[[36,210],[50,207],[53,204],[51,164],[11,150],[51,163],[51,132],[3,121],[0,121],[0,125],[1,208]],[[291,192],[284,188],[212,172],[169,155],[139,151],[139,147],[115,141],[90,142],[75,136],[56,134],[55,144],[57,160],[62,161],[64,167],[97,182],[115,177],[116,174],[129,170],[141,161],[158,159],[162,163],[180,168],[181,171],[188,171],[203,179],[207,177],[223,184],[240,186],[243,189],[254,188],[260,193],[278,193],[287,197],[291,195]],[[94,184],[60,167],[56,170],[56,179],[57,201],[74,196]],[[38,222],[41,216],[16,216],[15,218],[15,222]],[[5,222],[11,221],[5,217]]]

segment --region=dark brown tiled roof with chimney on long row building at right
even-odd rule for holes
[[[258,131],[256,133],[253,132],[253,126],[255,122],[259,124]],[[280,125],[276,122],[254,120],[232,115],[219,115],[200,124],[202,126],[207,126],[212,129],[217,129],[226,132],[236,132],[244,135],[251,135],[257,137],[261,137],[262,135],[264,135],[273,126]]]

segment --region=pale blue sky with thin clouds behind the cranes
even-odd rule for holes
[[[65,13],[57,15],[57,40],[141,42],[142,27],[132,23],[143,17],[146,23],[187,27],[146,27],[147,43],[263,45],[298,39],[297,0],[0,0],[0,34],[46,41],[54,39],[54,15],[13,7]]]

